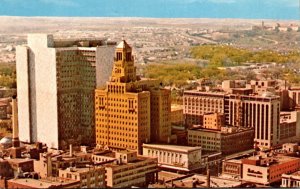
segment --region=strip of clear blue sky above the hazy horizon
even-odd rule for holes
[[[0,15],[300,20],[299,0],[0,0]]]

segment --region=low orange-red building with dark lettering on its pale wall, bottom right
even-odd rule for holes
[[[243,180],[263,185],[281,181],[281,175],[298,171],[300,158],[263,153],[242,159]]]

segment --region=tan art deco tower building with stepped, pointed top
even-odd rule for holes
[[[122,41],[110,81],[95,90],[96,143],[142,153],[143,143],[168,142],[170,103],[170,91],[157,80],[137,77],[132,49]]]

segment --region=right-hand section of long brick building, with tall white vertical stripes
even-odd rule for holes
[[[229,125],[253,127],[254,140],[262,148],[280,144],[280,99],[271,93],[261,96],[229,95],[225,99],[226,122]]]

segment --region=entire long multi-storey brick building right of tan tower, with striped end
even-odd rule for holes
[[[261,95],[225,94],[217,92],[184,92],[186,124],[202,125],[206,113],[222,113],[225,124],[250,127],[261,148],[280,144],[280,97],[264,92]]]

